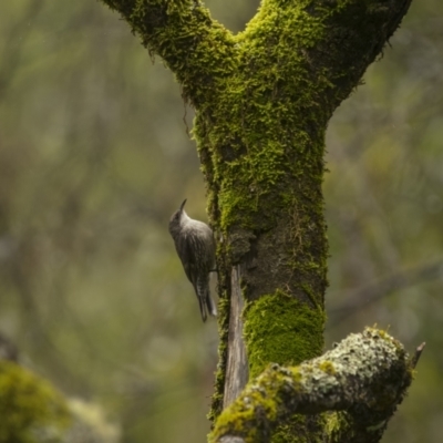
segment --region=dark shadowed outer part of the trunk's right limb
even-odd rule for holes
[[[412,0],[320,0],[315,16],[322,20],[321,40],[309,58],[319,79],[323,75],[331,84],[324,105],[331,112],[359,84],[367,68],[382,50]]]

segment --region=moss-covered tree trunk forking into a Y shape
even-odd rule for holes
[[[411,0],[262,0],[237,35],[198,0],[103,2],[163,58],[196,111],[209,217],[222,239],[216,419],[246,380],[240,295],[249,378],[269,362],[322,352],[326,127]],[[224,395],[225,387],[234,388]],[[320,422],[296,420],[298,435],[318,436]]]

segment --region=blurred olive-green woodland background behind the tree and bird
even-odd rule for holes
[[[258,0],[212,0],[239,31]],[[203,442],[217,326],[167,233],[206,219],[193,112],[92,0],[0,7],[0,332],[121,441]],[[443,3],[421,0],[330,122],[328,346],[367,324],[427,346],[385,442],[443,435]]]

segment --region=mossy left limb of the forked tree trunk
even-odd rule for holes
[[[122,14],[151,55],[162,56],[194,106],[219,92],[218,80],[233,70],[234,38],[199,1],[102,1]]]

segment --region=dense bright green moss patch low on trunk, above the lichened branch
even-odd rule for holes
[[[250,378],[270,362],[296,365],[322,352],[323,311],[282,291],[250,302],[244,318]]]

